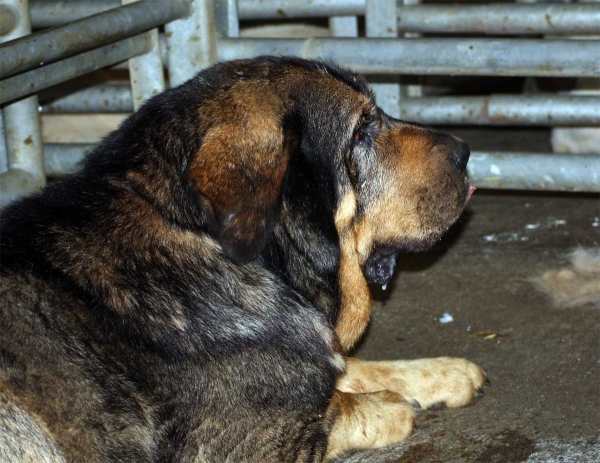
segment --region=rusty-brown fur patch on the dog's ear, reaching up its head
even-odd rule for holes
[[[216,100],[214,117],[189,178],[232,239],[250,240],[275,208],[288,165],[282,103],[272,88],[258,94],[239,84]],[[237,117],[232,117],[236,114]],[[209,122],[210,123],[210,122]],[[245,201],[248,195],[252,202]],[[257,226],[258,225],[258,226]]]

